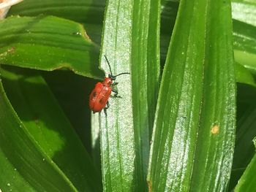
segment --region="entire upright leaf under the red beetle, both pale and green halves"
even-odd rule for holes
[[[105,12],[101,65],[108,57],[121,98],[110,99],[100,127],[105,191],[146,191],[149,135],[159,86],[159,1],[109,1]],[[114,39],[114,40],[113,40]],[[132,80],[132,81],[131,81]],[[131,83],[132,82],[132,83]],[[132,86],[132,94],[131,94]]]

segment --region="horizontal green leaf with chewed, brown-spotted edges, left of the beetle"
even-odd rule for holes
[[[100,78],[98,47],[83,26],[53,16],[12,17],[0,21],[0,64],[52,71],[70,69]]]

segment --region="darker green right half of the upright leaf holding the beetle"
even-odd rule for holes
[[[132,15],[132,112],[135,131],[135,185],[146,191],[149,138],[159,91],[160,1],[140,0]]]

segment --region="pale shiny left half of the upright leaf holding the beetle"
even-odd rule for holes
[[[108,1],[102,33],[100,65],[113,74],[129,72],[132,34],[132,0]],[[135,136],[133,133],[132,94],[129,74],[117,77],[118,94],[110,107],[92,117],[92,129],[99,127],[102,183],[104,191],[133,191],[135,175]],[[117,89],[116,88],[116,89]],[[96,128],[94,128],[96,127]]]

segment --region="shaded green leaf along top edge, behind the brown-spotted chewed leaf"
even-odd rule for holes
[[[26,0],[13,6],[8,15],[54,15],[83,23],[86,33],[100,44],[105,0]]]

